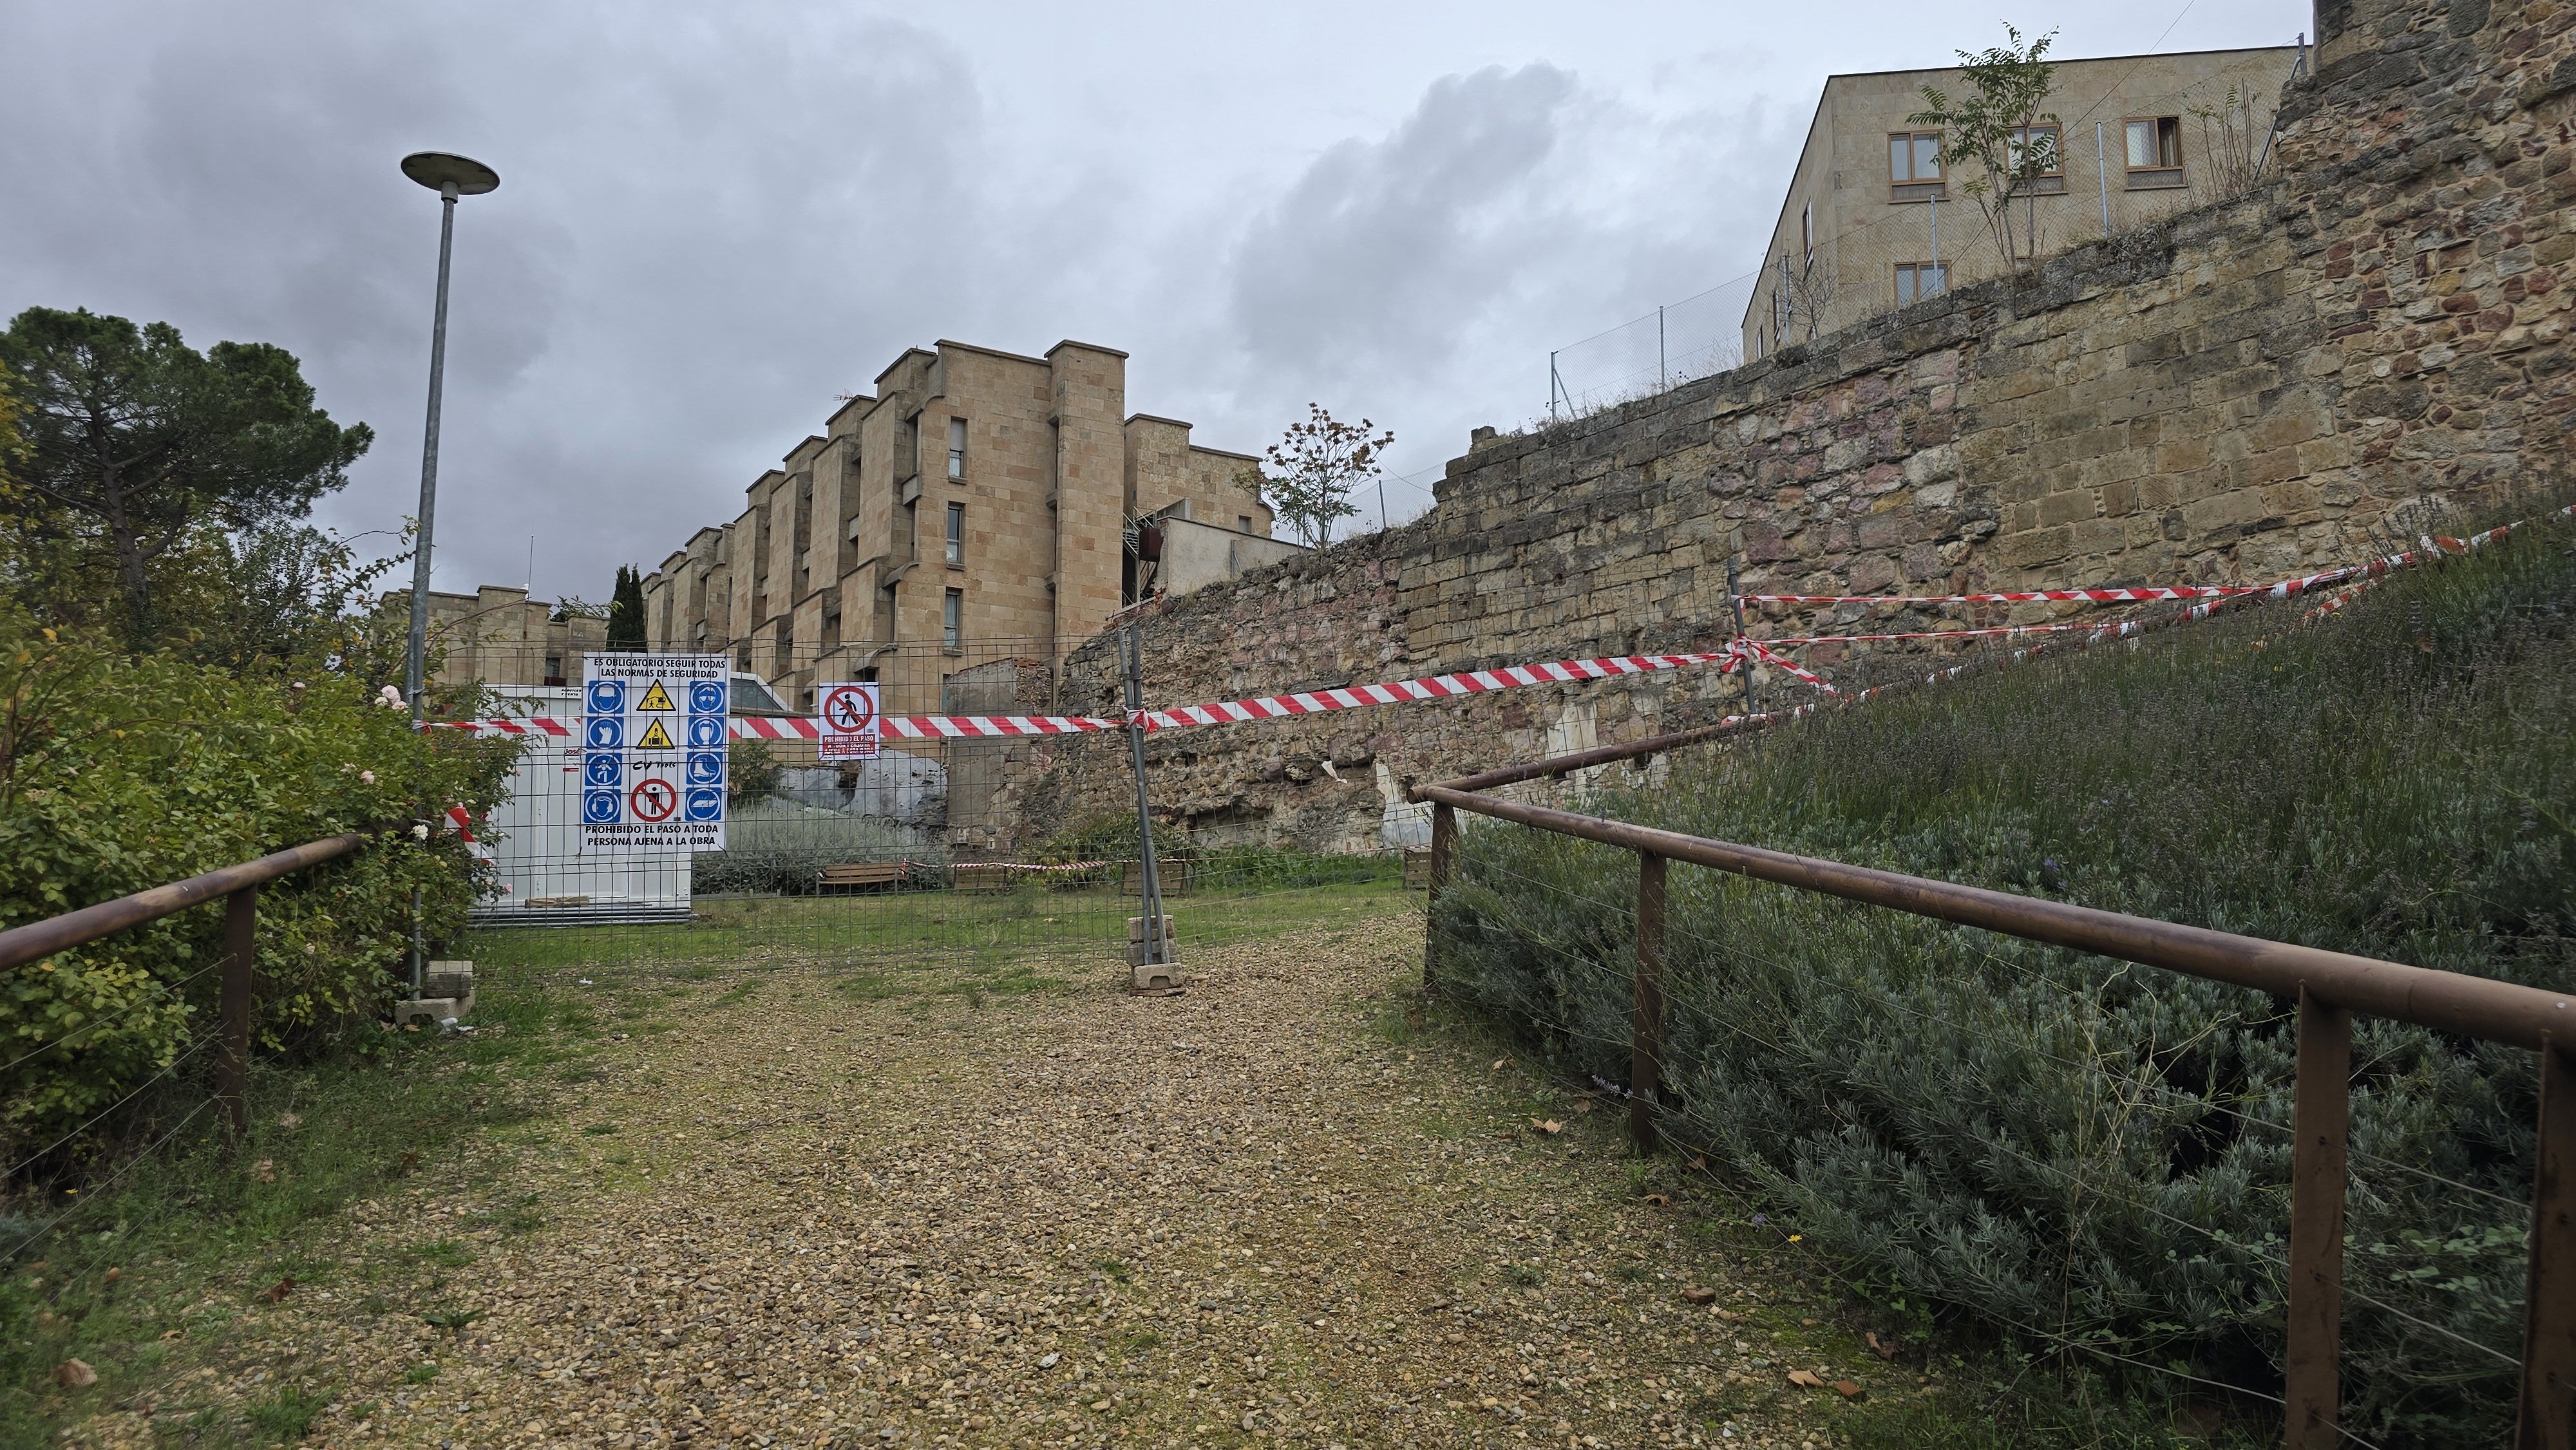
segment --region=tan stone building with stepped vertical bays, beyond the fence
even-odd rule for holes
[[[1115,348],[912,348],[755,479],[739,518],[644,577],[647,639],[729,652],[791,708],[817,680],[878,680],[896,652],[1051,675],[1136,598],[1136,520],[1270,538],[1270,507],[1234,482],[1252,461],[1126,412]]]

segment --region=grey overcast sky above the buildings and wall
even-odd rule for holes
[[[456,149],[438,585],[600,600],[902,348],[1126,348],[1128,407],[1399,435],[1401,520],[1548,350],[1741,278],[1821,80],[1999,39],[1984,0],[0,0],[0,314],[304,358],[420,487]],[[2048,10],[2017,18],[2045,23]],[[2058,8],[2061,57],[2287,44],[2306,0]],[[1365,500],[1370,515],[1376,500]],[[1368,523],[1376,523],[1370,518]]]

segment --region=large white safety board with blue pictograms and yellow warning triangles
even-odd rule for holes
[[[582,662],[582,850],[724,850],[724,654]]]

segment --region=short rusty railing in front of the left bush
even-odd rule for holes
[[[214,1097],[224,1105],[232,1141],[250,1131],[250,986],[258,966],[260,883],[337,860],[366,845],[363,834],[337,834],[286,847],[258,860],[28,922],[0,932],[0,971],[44,961],[57,950],[95,943],[126,927],[157,922],[188,907],[224,899],[224,986],[219,1004],[222,1053]]]

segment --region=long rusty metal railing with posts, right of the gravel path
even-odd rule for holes
[[[2298,1079],[2290,1159],[2290,1321],[2282,1375],[2285,1445],[2326,1450],[2342,1440],[2336,1429],[2342,1409],[2336,1360],[2342,1355],[2344,1298],[2352,1015],[2367,1012],[2439,1033],[2530,1048],[2540,1053],[2540,1141],[2532,1172],[2514,1447],[2571,1450],[2571,1435],[2576,1435],[2571,1429],[2571,1419],[2576,1419],[2576,997],[1731,845],[1479,793],[1479,788],[1507,780],[1564,775],[1566,770],[1656,755],[1674,742],[1674,737],[1656,737],[1409,791],[1412,801],[1432,806],[1432,901],[1450,881],[1458,811],[1636,852],[1636,1012],[1628,1059],[1628,1128],[1638,1146],[1651,1149],[1656,1138],[1654,1110],[1664,1059],[1664,871],[1672,860],[2293,999],[2298,1002]],[[1425,953],[1425,986],[1437,986],[1430,953]]]

